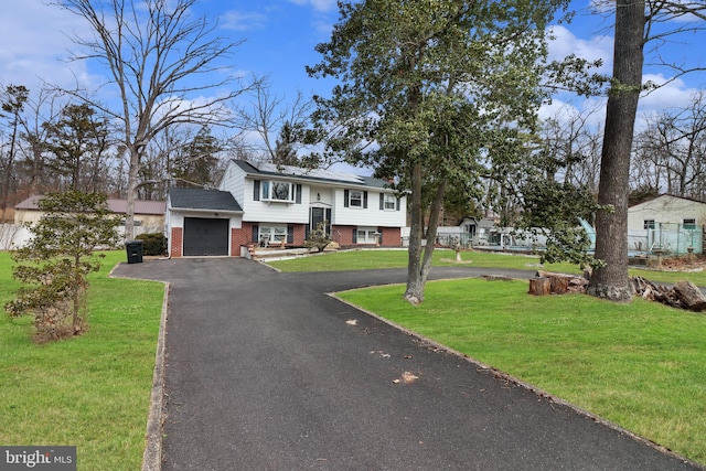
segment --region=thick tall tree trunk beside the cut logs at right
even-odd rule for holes
[[[606,110],[598,202],[613,212],[596,217],[596,258],[606,263],[591,276],[588,292],[630,301],[628,276],[628,193],[630,156],[642,86],[644,0],[617,0],[613,84]]]

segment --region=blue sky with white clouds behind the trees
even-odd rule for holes
[[[557,40],[550,47],[553,58],[575,53],[587,58],[602,58],[603,71],[609,73],[612,58],[612,19],[589,14],[590,0],[576,0],[578,11],[575,21],[555,30]],[[67,50],[75,46],[65,36],[67,32],[85,32],[79,18],[45,0],[0,0],[0,85],[22,84],[39,89],[41,78],[71,86],[77,78],[84,83],[100,82],[100,69],[89,68],[85,63],[66,63]],[[221,34],[244,41],[235,52],[232,66],[247,76],[268,75],[272,93],[293,99],[297,90],[306,96],[327,94],[331,82],[310,78],[306,65],[315,64],[320,56],[315,44],[330,38],[338,21],[335,0],[259,0],[224,1],[199,0],[197,13],[218,18]],[[672,44],[663,50],[674,62],[704,60],[700,49],[705,38],[683,38],[682,44]],[[706,62],[706,60],[705,60]],[[671,77],[665,69],[645,69],[645,78],[664,82]],[[706,87],[706,74],[692,75],[674,81],[642,100],[642,113],[652,113],[668,106],[688,104],[691,94]],[[542,116],[561,113],[563,106],[584,108],[602,106],[601,99],[589,101],[569,100],[559,96],[550,106],[542,109]],[[593,119],[599,124],[603,117],[599,110]]]

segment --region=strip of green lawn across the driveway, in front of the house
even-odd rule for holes
[[[469,267],[516,268],[523,270],[536,270],[538,268],[548,271],[575,272],[581,270],[570,264],[539,265],[538,256],[512,255],[490,253],[482,250],[462,251],[464,265]],[[289,260],[269,261],[268,265],[282,271],[342,271],[367,270],[376,268],[404,268],[407,266],[406,250],[350,250],[327,253],[312,257],[299,257]],[[434,266],[454,266],[454,253],[452,250],[435,250]],[[646,269],[630,269],[631,276],[641,276],[654,282],[672,283],[688,279],[697,286],[706,286],[706,272],[677,272],[655,271]]]

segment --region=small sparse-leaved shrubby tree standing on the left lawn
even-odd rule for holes
[[[39,206],[45,214],[28,225],[32,238],[12,253],[13,277],[22,286],[4,309],[13,317],[34,315],[38,341],[78,335],[86,329],[87,277],[104,256],[94,250],[116,244],[118,221],[98,193],[53,193]]]

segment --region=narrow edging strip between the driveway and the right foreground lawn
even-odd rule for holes
[[[366,287],[366,288],[370,288],[370,287]],[[376,286],[375,288],[379,288],[379,286]],[[361,289],[365,289],[365,288],[355,288],[355,289],[343,290],[343,291],[339,291],[339,292],[359,291]],[[506,381],[509,383],[514,384],[515,386],[520,386],[520,387],[522,387],[522,388],[524,388],[524,389],[526,389],[526,390],[528,390],[531,393],[534,393],[539,397],[539,399],[545,399],[545,400],[547,400],[549,403],[557,404],[557,405],[559,405],[561,407],[566,407],[568,409],[571,409],[576,414],[578,414],[580,416],[584,416],[587,419],[590,419],[590,420],[592,420],[592,421],[595,421],[595,422],[597,422],[597,424],[599,424],[599,425],[601,425],[603,427],[607,427],[607,428],[610,428],[612,430],[616,430],[619,433],[625,435],[625,436],[632,438],[633,440],[635,440],[635,441],[638,441],[640,443],[646,445],[648,447],[651,447],[651,448],[655,449],[656,451],[659,451],[659,452],[661,452],[663,454],[666,454],[666,456],[670,456],[670,457],[675,458],[677,460],[681,460],[684,463],[693,465],[693,467],[695,467],[697,469],[706,470],[706,464],[702,464],[702,463],[696,462],[694,460],[691,460],[691,459],[688,459],[686,457],[683,457],[683,456],[674,452],[673,450],[671,450],[671,449],[668,449],[668,448],[666,448],[666,447],[664,447],[664,446],[662,446],[662,445],[660,445],[660,443],[657,443],[657,442],[655,442],[653,440],[650,440],[646,437],[643,437],[643,436],[641,436],[639,433],[630,431],[630,430],[621,427],[620,425],[618,425],[618,424],[616,424],[613,421],[610,421],[610,420],[605,419],[605,418],[602,418],[600,416],[597,416],[596,414],[592,414],[592,413],[590,413],[590,411],[588,411],[588,410],[586,410],[586,409],[584,409],[584,408],[581,408],[581,407],[579,407],[579,406],[577,406],[575,404],[571,404],[571,403],[569,403],[569,402],[567,402],[565,399],[561,399],[560,397],[557,397],[557,396],[555,396],[555,395],[553,395],[553,394],[550,394],[550,393],[548,393],[548,392],[546,392],[546,390],[544,390],[544,389],[542,389],[542,388],[539,388],[537,386],[534,386],[534,385],[532,385],[530,383],[526,383],[526,382],[524,382],[524,381],[522,381],[522,379],[520,379],[520,378],[517,378],[515,376],[512,376],[512,375],[510,375],[510,374],[507,374],[505,372],[502,372],[502,371],[500,371],[500,370],[498,370],[498,368],[495,368],[495,367],[493,367],[493,366],[491,366],[489,364],[485,364],[485,363],[483,363],[483,362],[481,362],[479,360],[475,360],[475,358],[467,355],[466,353],[459,352],[458,350],[451,349],[451,347],[449,347],[449,346],[447,346],[447,345],[445,345],[442,343],[439,343],[439,342],[437,342],[435,340],[426,338],[425,335],[421,335],[421,334],[419,334],[419,333],[417,333],[417,332],[415,332],[415,331],[413,331],[410,329],[405,328],[404,325],[400,325],[400,324],[398,324],[396,322],[393,322],[389,319],[383,318],[382,315],[379,315],[379,314],[377,314],[377,313],[375,313],[373,311],[368,311],[367,309],[364,309],[364,308],[362,308],[362,307],[360,307],[357,304],[349,302],[345,299],[340,298],[338,296],[338,292],[327,292],[325,295],[328,297],[330,297],[330,298],[333,298],[333,299],[340,301],[340,302],[343,302],[346,306],[350,306],[351,308],[357,309],[359,311],[361,311],[361,312],[363,312],[363,313],[365,313],[367,315],[371,315],[371,317],[377,319],[378,321],[384,322],[387,325],[404,332],[405,334],[407,334],[409,336],[416,338],[419,341],[421,341],[421,342],[424,342],[424,343],[426,343],[426,344],[428,344],[428,345],[430,345],[430,346],[432,346],[435,349],[439,349],[439,350],[441,350],[443,352],[447,352],[447,353],[449,353],[451,355],[458,356],[459,358],[464,360],[464,361],[478,366],[478,368],[482,370],[483,372],[492,374],[498,379]]]

